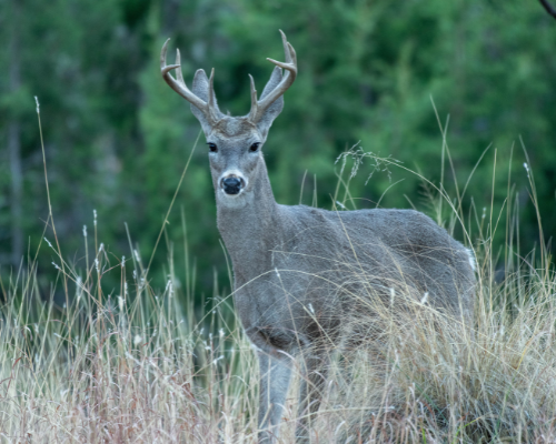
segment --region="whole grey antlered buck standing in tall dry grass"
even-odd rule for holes
[[[296,436],[309,440],[326,380],[326,344],[345,334],[355,299],[381,297],[393,289],[419,299],[428,294],[434,307],[468,320],[475,282],[470,252],[423,213],[276,202],[262,148],[297,75],[296,52],[280,33],[286,61],[267,59],[276,67],[260,99],[249,75],[251,109],[244,117],[220,112],[214,70],[210,78],[198,70],[189,90],[179,50],[176,64],[166,63],[169,39],[160,54],[163,79],[190,102],[207,139],[234,302],[259,361],[259,443],[277,440],[292,356],[301,356],[304,372]]]

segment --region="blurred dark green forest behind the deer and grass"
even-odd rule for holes
[[[260,91],[272,68],[266,58],[282,59],[278,29],[296,48],[299,64],[265,147],[279,203],[330,209],[340,168],[335,161],[358,142],[433,183],[440,183],[443,171],[451,178],[448,158],[444,169],[440,163],[443,131],[434,101],[441,127],[449,122],[455,180],[445,181],[448,194],[457,194],[455,183],[461,191],[485,154],[464,196],[465,212],[480,219],[490,202],[502,210],[510,173],[528,252],[539,242],[528,192],[533,171],[549,242],[556,226],[556,23],[537,1],[4,0],[2,279],[13,279],[38,251],[44,297],[62,292],[51,286],[56,258],[42,240],[49,209],[34,95],[64,259],[85,268],[83,225],[91,242],[93,210],[115,263],[131,254],[126,224],[148,259],[200,131],[189,104],[160,77],[163,41],[171,38],[171,50],[181,49],[189,84],[195,70],[215,67],[220,108],[245,114],[247,74]],[[358,208],[435,211],[419,178],[376,169],[370,159],[350,189]],[[152,269],[162,270],[172,242],[183,242],[182,220],[196,294],[211,293],[215,278],[229,290],[202,135]],[[51,228],[44,235],[52,240]],[[183,254],[173,258],[182,279],[185,261]],[[153,278],[151,284],[165,281]]]

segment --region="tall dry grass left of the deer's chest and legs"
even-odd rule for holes
[[[249,423],[254,364],[235,320],[214,311],[197,329],[172,278],[157,294],[139,266],[128,284],[126,265],[112,265],[117,295],[101,290],[102,248],[83,281],[69,270],[69,306],[44,301],[32,270],[10,285],[0,330],[7,442],[217,442],[239,417]]]

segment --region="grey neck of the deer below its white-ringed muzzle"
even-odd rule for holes
[[[278,205],[275,201],[265,162],[257,169],[252,188],[238,205],[226,204],[218,195],[218,230],[230,254],[236,280],[252,279],[270,268],[270,252],[278,242]],[[244,196],[242,196],[244,198]]]

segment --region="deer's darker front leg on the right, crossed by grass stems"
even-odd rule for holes
[[[299,390],[298,423],[296,427],[296,442],[309,443],[311,420],[317,413],[322,398],[328,370],[326,353],[304,352],[301,355],[301,386]]]

